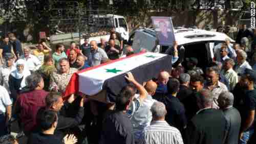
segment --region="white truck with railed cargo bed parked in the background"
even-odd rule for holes
[[[103,26],[104,25],[104,26]],[[110,31],[111,27],[116,28],[116,32],[120,33],[121,36],[124,38],[124,40],[129,39],[129,28],[127,26],[127,22],[125,18],[121,15],[113,15],[113,14],[108,14],[108,15],[91,15],[90,21],[89,21],[89,27],[94,31],[93,29],[97,29],[96,27],[103,26],[105,28],[109,28],[108,32]],[[100,33],[100,32],[95,32],[92,33],[93,35],[89,38],[89,40],[96,40],[97,43],[100,43],[100,39],[104,38],[106,40],[109,40],[110,34],[106,33]],[[94,35],[95,34],[95,35]],[[74,40],[79,40],[79,33],[62,33],[62,34],[56,34],[52,35],[50,37],[51,43],[61,43],[61,42],[67,42],[67,41],[74,41]],[[80,44],[84,43],[84,39],[80,38]]]

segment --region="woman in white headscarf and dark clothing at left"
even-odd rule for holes
[[[9,88],[13,102],[16,101],[20,90],[26,86],[26,78],[31,75],[28,68],[25,67],[25,60],[18,59],[16,62],[16,70],[12,71],[9,76]]]

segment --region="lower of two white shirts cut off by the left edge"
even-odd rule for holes
[[[12,104],[8,91],[0,85],[0,114],[6,112],[6,107]]]

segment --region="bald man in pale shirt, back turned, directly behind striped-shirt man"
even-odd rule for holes
[[[157,83],[155,83],[154,81],[148,81],[145,84],[145,89],[148,95],[145,99],[140,99],[142,103],[141,105],[139,105],[131,118],[134,129],[133,133],[135,142],[138,142],[143,129],[147,126],[150,126],[150,123],[152,121],[152,112],[150,111],[150,109],[153,103],[156,102],[156,100],[154,100],[151,95],[155,94],[157,89]],[[138,99],[138,96],[139,95],[135,95],[135,99]]]

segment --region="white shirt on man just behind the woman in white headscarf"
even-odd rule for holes
[[[32,71],[39,69],[39,67],[42,65],[39,59],[32,54],[30,54],[28,58],[25,58],[24,56],[22,56],[22,59],[26,61],[25,63],[26,67],[28,67],[28,69]]]

